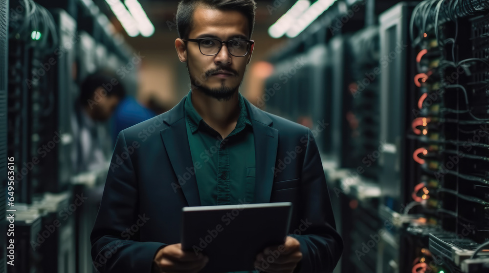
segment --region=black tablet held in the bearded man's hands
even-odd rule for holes
[[[255,270],[258,253],[285,242],[292,203],[184,207],[182,249],[209,257],[202,273]]]

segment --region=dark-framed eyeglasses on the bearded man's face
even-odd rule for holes
[[[224,43],[229,51],[229,54],[235,57],[244,57],[248,54],[253,40],[234,39],[229,41],[220,41],[212,38],[200,39],[182,39],[184,41],[199,43],[200,53],[206,56],[214,56],[221,51],[222,43]]]

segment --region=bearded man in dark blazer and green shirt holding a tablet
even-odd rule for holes
[[[175,47],[191,90],[168,112],[119,133],[91,234],[100,272],[199,272],[208,258],[182,251],[182,207],[249,200],[293,203],[294,234],[250,254],[257,271],[333,271],[343,243],[311,130],[239,93],[253,52],[255,6],[179,3]]]

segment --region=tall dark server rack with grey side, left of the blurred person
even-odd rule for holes
[[[75,96],[78,94],[73,65],[79,39],[76,35],[76,21],[66,11],[53,9],[51,13],[57,26],[59,43],[52,54],[43,58],[44,63],[50,64],[50,68],[39,81],[42,89],[39,99],[49,98],[46,108],[52,109],[49,113],[33,117],[37,119],[37,122],[33,122],[33,131],[40,138],[36,149],[41,149],[42,145],[51,148],[51,142],[56,145],[51,151],[41,154],[43,159],[36,165],[33,172],[37,185],[34,194],[66,191],[70,187],[72,175],[70,159],[74,138],[70,117]],[[36,128],[38,124],[41,126]]]

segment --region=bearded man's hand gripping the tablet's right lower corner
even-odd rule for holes
[[[256,256],[255,269],[268,273],[292,273],[302,259],[300,243],[287,236],[285,243],[267,247]]]

